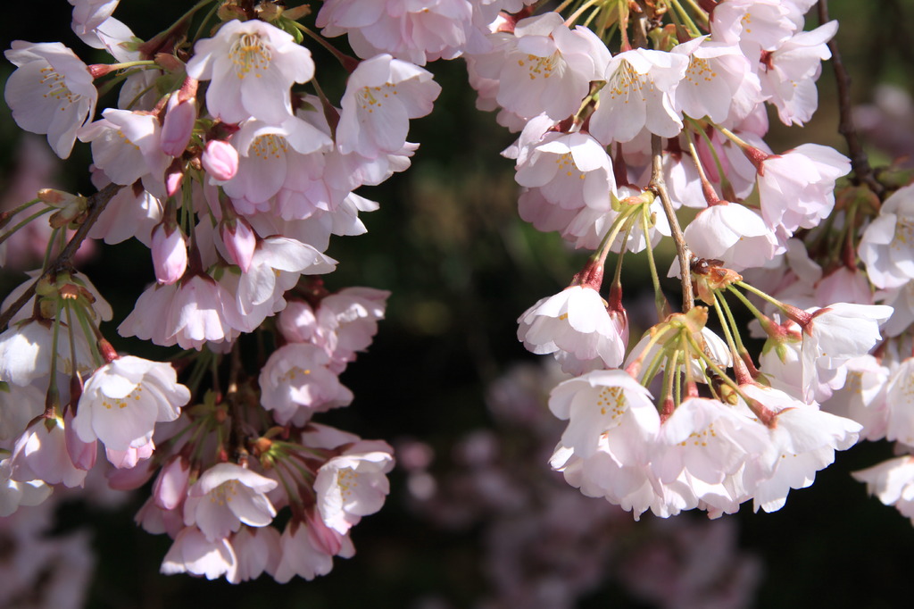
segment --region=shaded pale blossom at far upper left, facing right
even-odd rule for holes
[[[16,65],[4,91],[16,124],[48,134],[54,153],[67,158],[99,97],[89,68],[59,42],[15,40],[5,57]]]

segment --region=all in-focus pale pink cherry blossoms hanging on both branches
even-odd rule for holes
[[[478,107],[518,134],[504,155],[521,218],[593,251],[518,319],[573,375],[548,401],[569,484],[636,519],[713,518],[781,508],[861,437],[914,445],[911,176],[764,142],[769,107],[787,125],[817,108],[837,23],[806,29],[812,0],[325,0],[320,32],[300,23],[310,5],[200,0],[149,40],[116,1],[69,3],[112,63],[58,42],[5,52],[16,123],[60,158],[88,144],[99,190],[42,188],[0,216],[0,264],[17,231],[50,227],[0,309],[0,515],[81,486],[103,447],[112,487],[154,481],[136,520],[174,540],[163,572],[288,582],[353,555],[392,449],[314,417],[355,399],[339,375],[389,294],[331,293],[324,252],[378,208],[356,189],[409,168],[409,122],[441,92],[422,66],[457,57]],[[345,71],[338,100],[306,40]],[[132,238],[155,283],[117,332],[183,349],[169,362],[115,351],[112,308],[73,264],[83,240]],[[622,262],[639,252],[657,317],[630,341]],[[857,476],[914,518],[911,458]]]

